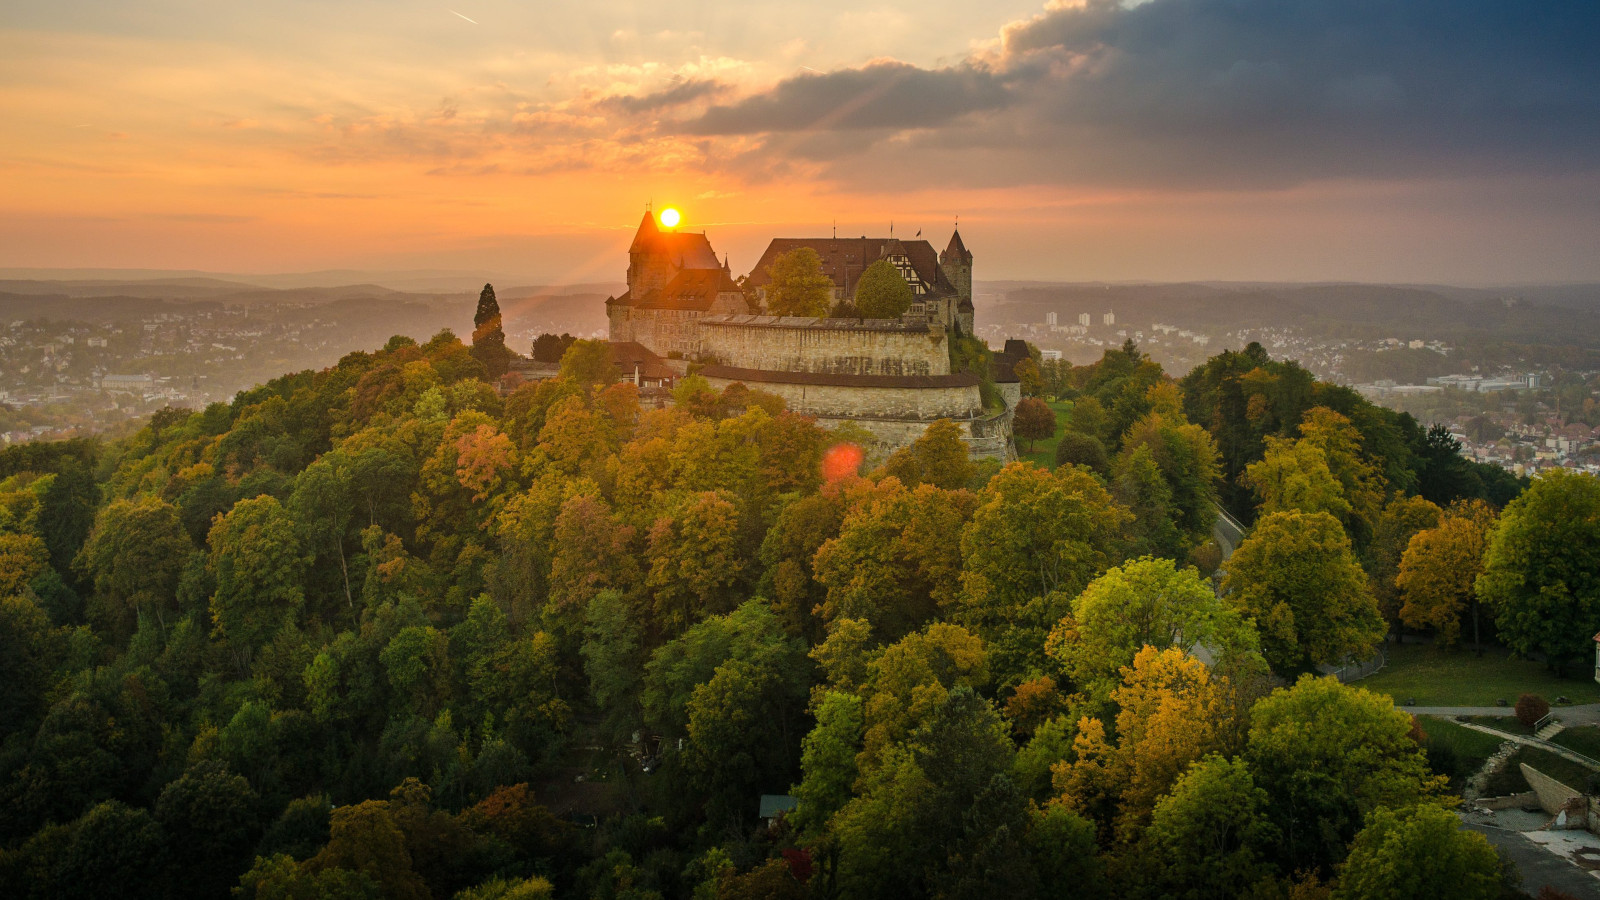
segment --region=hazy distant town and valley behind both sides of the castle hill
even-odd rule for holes
[[[21,304],[21,315],[0,336],[0,442],[120,434],[162,407],[227,402],[277,373],[328,367],[346,352],[381,346],[395,331],[461,330],[443,312],[458,309],[459,299],[376,291],[328,288],[294,303],[138,301],[130,312],[112,312],[117,298],[106,296],[93,299],[104,304],[104,314],[78,317],[85,309],[78,299],[59,319],[42,314],[38,303]],[[1173,303],[1152,306],[1130,290],[1107,293],[1101,303],[1083,299],[1082,291],[1058,301],[1037,287],[979,285],[976,336],[995,348],[1006,336],[1022,338],[1046,362],[1078,365],[1133,340],[1174,373],[1258,341],[1275,359],[1298,360],[1323,381],[1347,384],[1424,424],[1443,423],[1467,458],[1517,474],[1552,466],[1600,472],[1600,360],[1587,356],[1539,359],[1542,348],[1531,341],[1506,352],[1475,343],[1470,333],[1461,340],[1400,328],[1381,335],[1354,314],[1346,315],[1347,325],[1245,325],[1243,315],[1206,323],[1227,317]],[[528,352],[544,330],[605,333],[602,319],[578,314],[592,301],[562,299],[512,312],[512,348]],[[374,315],[374,307],[384,315]],[[5,312],[0,304],[0,317]]]

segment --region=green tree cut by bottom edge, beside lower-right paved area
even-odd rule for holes
[[[1499,854],[1435,804],[1374,809],[1350,844],[1334,900],[1493,900],[1504,897]]]

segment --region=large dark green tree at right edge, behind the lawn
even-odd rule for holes
[[[1557,668],[1594,653],[1600,631],[1600,479],[1554,469],[1501,514],[1483,552],[1478,599],[1499,637]]]

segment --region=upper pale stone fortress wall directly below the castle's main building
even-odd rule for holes
[[[950,373],[944,328],[898,319],[707,315],[701,352],[766,372],[928,376]]]

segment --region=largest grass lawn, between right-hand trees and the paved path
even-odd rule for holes
[[[1600,684],[1589,677],[1587,666],[1579,666],[1574,677],[1560,679],[1544,663],[1512,660],[1501,649],[1488,649],[1482,657],[1472,650],[1438,650],[1432,644],[1389,644],[1387,650],[1389,665],[1355,685],[1387,693],[1397,703],[1494,706],[1496,700],[1517,703],[1523,693],[1544,695],[1552,705],[1557,697],[1600,703]]]

